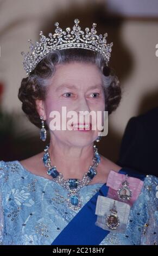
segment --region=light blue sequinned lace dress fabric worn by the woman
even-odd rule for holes
[[[157,239],[158,178],[144,179],[130,209],[124,234],[110,232],[100,245],[154,245]],[[85,205],[103,184],[81,188]],[[79,211],[66,205],[67,191],[53,180],[32,174],[20,162],[0,161],[0,244],[50,245]]]

